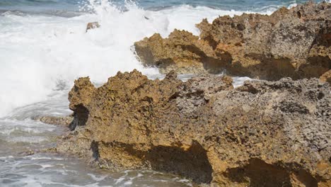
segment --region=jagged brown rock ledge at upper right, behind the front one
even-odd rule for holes
[[[222,16],[197,24],[199,36],[174,30],[135,42],[139,60],[162,73],[211,72],[278,80],[319,78],[331,67],[331,4],[280,8],[271,16]],[[330,82],[330,73],[328,80]],[[330,82],[331,83],[331,82]]]

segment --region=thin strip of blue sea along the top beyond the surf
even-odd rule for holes
[[[86,4],[87,0],[1,0],[0,9],[16,9],[21,11],[45,11],[45,10],[67,10],[79,11],[79,7]],[[111,1],[112,4],[123,6],[124,1]],[[133,1],[141,8],[158,10],[182,4],[190,6],[207,6],[223,10],[236,11],[265,11],[290,6],[291,4],[302,4],[304,0],[139,0]]]

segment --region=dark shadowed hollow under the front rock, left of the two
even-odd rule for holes
[[[121,142],[99,143],[91,145],[93,156],[96,160],[110,161],[112,158],[100,158],[99,148],[120,149],[126,152],[127,156],[141,160],[141,168],[149,168],[154,171],[162,171],[170,174],[178,174],[187,179],[192,179],[194,183],[210,183],[212,180],[212,168],[207,157],[207,151],[193,142],[188,149],[180,146],[155,146],[147,151],[136,149],[134,145],[128,145]],[[114,149],[113,149],[114,148]]]

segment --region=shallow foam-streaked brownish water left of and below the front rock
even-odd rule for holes
[[[153,78],[153,77],[151,77]],[[183,77],[185,79],[185,77]],[[68,89],[42,102],[16,108],[0,119],[0,186],[192,186],[187,179],[156,171],[100,171],[65,155],[42,152],[54,147],[67,129],[31,120],[38,115],[68,115]],[[29,155],[31,153],[32,155]]]

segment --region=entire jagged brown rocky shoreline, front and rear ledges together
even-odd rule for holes
[[[70,128],[52,151],[198,186],[331,186],[331,4],[197,27],[199,36],[174,30],[134,44],[145,66],[167,73],[163,80],[137,70],[98,88],[76,80],[73,115],[36,119]],[[214,75],[224,70],[266,80],[234,88],[231,77]]]

